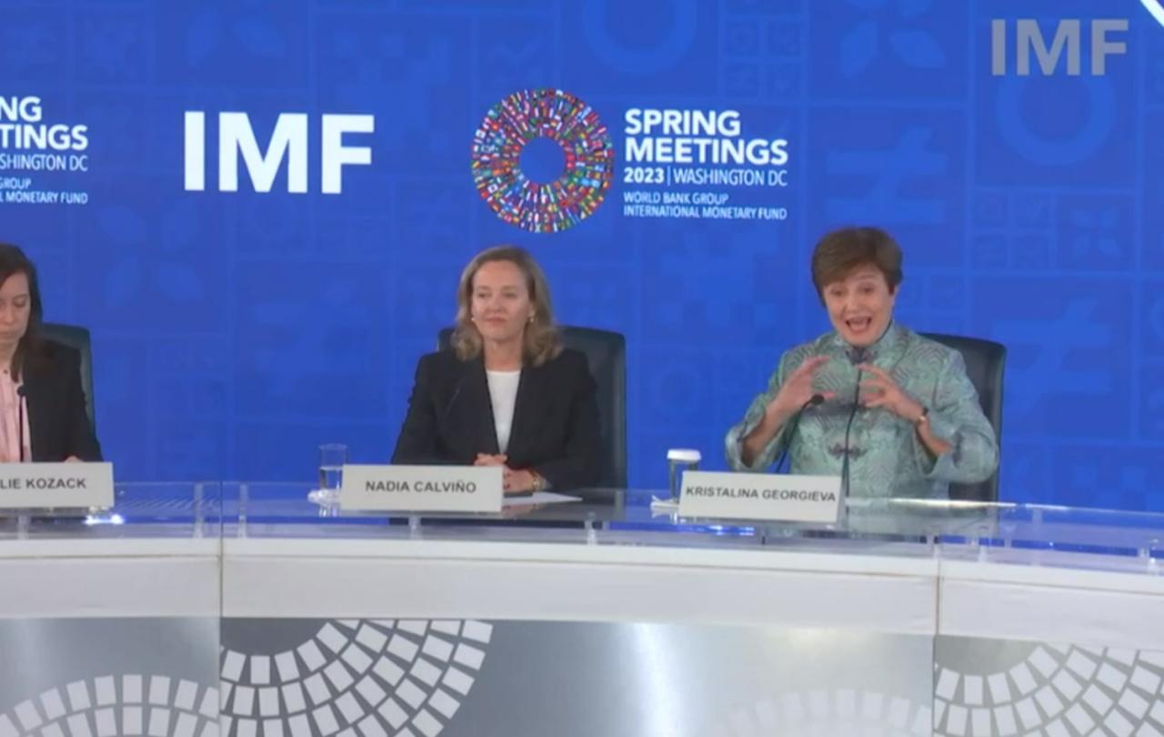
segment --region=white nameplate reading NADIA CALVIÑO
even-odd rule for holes
[[[501,466],[343,467],[340,509],[501,512]]]

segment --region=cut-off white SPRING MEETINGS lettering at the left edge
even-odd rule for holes
[[[0,95],[0,206],[85,205],[66,189],[88,171],[88,126],[55,118],[34,94]]]

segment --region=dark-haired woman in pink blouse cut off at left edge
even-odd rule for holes
[[[0,243],[0,461],[100,461],[80,354],[41,336],[36,267]]]

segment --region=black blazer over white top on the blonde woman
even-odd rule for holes
[[[392,462],[468,466],[477,453],[501,453],[483,359],[421,356]],[[565,349],[521,369],[506,455],[510,468],[533,469],[558,490],[598,482],[598,405],[584,355]]]

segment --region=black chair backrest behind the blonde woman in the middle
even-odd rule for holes
[[[598,427],[602,431],[602,474],[598,486],[626,488],[626,339],[592,327],[561,326],[562,345],[584,354],[597,384]],[[449,349],[453,328],[438,336],[438,350]]]

